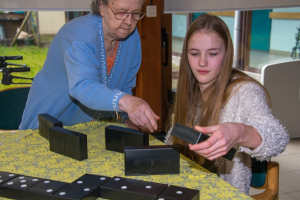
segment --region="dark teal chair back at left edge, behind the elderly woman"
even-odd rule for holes
[[[17,130],[21,123],[30,87],[0,91],[0,130]]]

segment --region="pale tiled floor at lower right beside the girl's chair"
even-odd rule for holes
[[[291,139],[285,151],[272,160],[279,163],[279,199],[300,199],[300,138]],[[260,192],[250,189],[250,195]]]

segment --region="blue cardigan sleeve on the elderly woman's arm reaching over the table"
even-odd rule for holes
[[[101,71],[95,46],[89,42],[75,41],[66,49],[64,62],[67,71],[69,94],[93,110],[119,110],[118,102],[135,82],[135,75],[126,84],[124,92],[110,89],[100,83]],[[126,90],[125,90],[126,89]],[[114,103],[113,100],[115,100]]]

